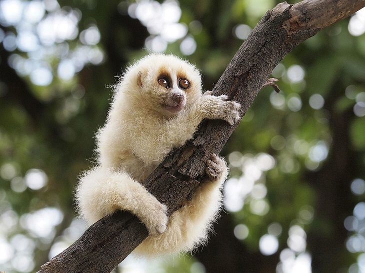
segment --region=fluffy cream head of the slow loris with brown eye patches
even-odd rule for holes
[[[173,117],[201,96],[201,78],[192,64],[173,55],[150,54],[130,66],[116,86],[133,107]]]

